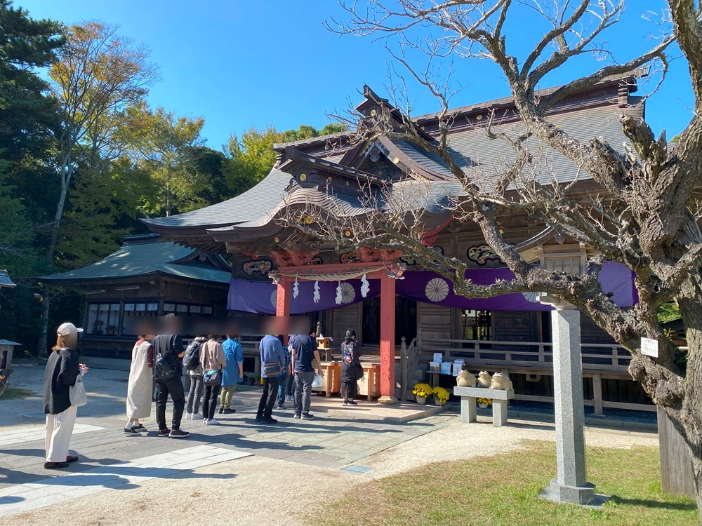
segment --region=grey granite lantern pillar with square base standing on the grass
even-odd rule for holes
[[[570,304],[554,306],[551,328],[558,476],[551,480],[543,497],[556,502],[595,504],[595,485],[588,483],[585,473],[580,311]]]

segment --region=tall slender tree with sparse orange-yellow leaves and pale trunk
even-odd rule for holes
[[[65,46],[49,72],[61,119],[60,191],[46,250],[49,268],[55,262],[61,221],[75,170],[78,166],[96,168],[98,156],[109,156],[105,152],[110,151],[110,130],[119,121],[118,116],[143,100],[159,78],[156,67],[148,62],[147,48],[119,36],[115,26],[86,22],[66,27],[65,34]],[[45,288],[41,346],[46,346],[49,309],[50,296]]]

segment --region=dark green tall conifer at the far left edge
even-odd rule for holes
[[[0,268],[18,287],[0,292],[3,337],[34,349],[41,309],[32,276],[45,267],[46,208],[58,185],[46,166],[58,106],[37,68],[48,67],[64,39],[57,22],[33,20],[0,0]]]

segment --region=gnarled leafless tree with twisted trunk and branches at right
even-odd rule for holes
[[[428,137],[409,112],[401,114],[378,100],[383,110],[361,116],[359,140],[406,140],[440,156],[460,182],[458,191],[446,194],[453,196],[449,208],[454,217],[479,225],[486,243],[515,274],[514,280],[494,285],[465,281],[465,264],[422,243],[423,233],[417,226],[421,207],[416,198],[409,202],[399,197],[403,194],[397,184],[383,191],[383,199],[367,194],[363,220],[345,217],[343,207],[334,217],[333,213],[320,214],[317,205],[298,203],[298,211],[284,222],[333,239],[340,249],[372,245],[402,250],[451,280],[459,295],[546,292],[588,313],[628,349],[632,356],[630,375],[656,405],[663,407],[684,437],[691,452],[697,504],[702,509],[702,234],[691,207],[693,192],[702,182],[702,10],[698,1],[661,1],[661,31],[651,41],[651,48],[636,58],[616,62],[613,50],[602,39],[621,18],[625,4],[634,7],[625,0],[389,0],[374,1],[370,6],[354,2],[342,4],[347,20],[329,22],[329,28],[341,34],[392,36],[399,41],[399,51],[391,53],[406,66],[410,77],[437,97],[441,105],[439,129]],[[545,23],[546,31],[533,50],[518,49],[510,54],[505,27],[524,23],[530,15],[532,20],[536,17]],[[620,121],[630,145],[623,152],[602,138],[576,140],[550,121],[548,111],[555,104],[609,76],[652,67],[662,79],[671,53],[681,52],[689,65],[694,109],[673,147],[664,133],[656,139],[644,121],[624,109]],[[588,54],[602,60],[590,74],[553,90],[538,91],[546,75]],[[427,58],[425,65],[419,62],[421,57]],[[501,69],[520,121],[509,133],[504,126],[497,126],[496,115],[492,116],[494,122],[484,126],[484,133],[505,142],[512,151],[510,160],[505,157],[501,168],[491,173],[465,169],[451,155],[451,93],[445,76],[440,81],[435,68],[442,60],[481,58]],[[402,91],[402,83],[399,88]],[[406,93],[404,100],[409,100]],[[532,137],[571,160],[578,173],[595,180],[600,194],[576,196],[571,191],[573,185],[559,183],[555,175],[544,184],[537,175],[548,166],[544,165],[545,156],[534,154],[527,146]],[[424,184],[429,188],[442,183]],[[427,199],[431,195],[431,191],[425,192]],[[328,209],[334,210],[333,196],[329,199]],[[379,201],[383,207],[378,207]],[[526,213],[559,234],[585,243],[598,255],[590,259],[582,274],[529,264],[501,234],[500,215],[513,213]],[[299,214],[310,215],[316,222],[300,221]],[[602,292],[598,275],[607,260],[622,262],[635,271],[639,302],[633,309],[619,307]],[[680,307],[687,330],[687,356],[665,337],[656,316],[659,307],[670,301]],[[642,354],[642,337],[658,341],[658,358]]]

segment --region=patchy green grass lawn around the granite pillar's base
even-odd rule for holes
[[[602,510],[539,498],[555,477],[555,444],[430,464],[376,480],[326,508],[315,526],[699,525],[692,499],[661,493],[658,448],[588,448],[588,480],[611,495]]]

